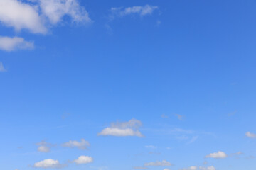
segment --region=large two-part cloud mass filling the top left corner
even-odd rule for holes
[[[77,0],[18,0],[0,1],[0,22],[15,30],[26,29],[31,33],[47,33],[47,24],[59,23],[63,16],[70,16],[78,23],[90,22],[90,17]]]

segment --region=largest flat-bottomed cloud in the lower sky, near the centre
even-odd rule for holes
[[[142,133],[137,130],[140,126],[142,126],[142,122],[136,119],[123,123],[112,123],[110,127],[103,129],[102,132],[98,133],[98,135],[143,137]]]

